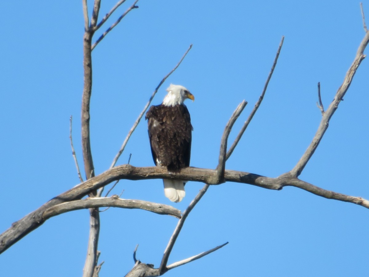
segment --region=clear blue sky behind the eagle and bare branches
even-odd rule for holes
[[[89,1],[91,2],[91,1]],[[116,0],[103,0],[101,15]],[[101,31],[132,1],[119,9]],[[258,99],[282,35],[284,46],[268,91],[227,169],[277,177],[293,168],[321,119],[317,82],[329,105],[364,31],[359,1],[145,1],[93,51],[91,143],[96,174],[110,166],[159,81],[196,97],[191,165],[217,165],[221,134],[235,107],[249,102],[233,141]],[[369,2],[363,1],[369,25]],[[91,11],[91,5],[90,9]],[[79,183],[69,144],[69,117],[82,167],[81,1],[0,2],[0,232]],[[95,39],[100,35],[97,34]],[[368,49],[366,51],[368,54]],[[358,69],[318,150],[300,176],[324,189],[369,199],[369,60]],[[146,122],[118,164],[152,166]],[[184,211],[202,184],[189,182]],[[122,198],[172,204],[161,180],[124,181]],[[0,276],[81,276],[89,213],[52,218],[0,256]],[[165,276],[365,276],[369,211],[297,188],[270,191],[225,183],[210,187],[192,211],[169,263],[229,241]],[[137,258],[159,266],[177,219],[111,208],[101,214],[100,276],[124,276]],[[354,272],[354,273],[353,273]]]

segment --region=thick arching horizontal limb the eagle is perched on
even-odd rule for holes
[[[178,173],[170,172],[169,174],[166,168],[162,167],[134,167],[129,164],[119,165],[101,173],[96,177],[88,179],[87,181],[77,185],[69,191],[62,193],[61,195],[56,196],[34,212],[31,212],[19,221],[14,222],[8,230],[0,235],[0,253],[4,252],[15,242],[44,223],[45,220],[43,219],[42,215],[46,209],[63,202],[80,199],[89,194],[89,192],[110,184],[113,181],[120,179],[179,179],[204,182],[214,185],[214,183],[211,183],[211,180],[214,180],[214,176],[216,174],[216,170],[196,167],[183,168]],[[258,187],[275,190],[280,190],[285,186],[292,186],[304,189],[315,195],[328,199],[350,202],[369,209],[369,201],[366,199],[340,194],[316,187],[312,184],[301,181],[290,173],[283,174],[277,178],[270,178],[248,172],[225,170],[224,181],[256,185]]]

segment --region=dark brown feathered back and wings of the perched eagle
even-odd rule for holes
[[[192,125],[183,104],[151,106],[146,113],[152,158],[170,171],[190,165]]]

